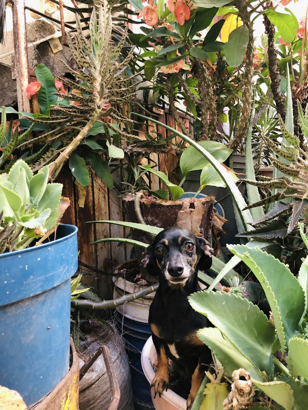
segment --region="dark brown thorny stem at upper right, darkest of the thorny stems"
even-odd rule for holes
[[[274,96],[277,112],[281,115],[283,121],[285,120],[285,96],[280,91],[280,73],[277,66],[277,54],[278,51],[275,47],[275,26],[269,21],[266,14],[263,14],[265,33],[268,37],[268,50],[267,55],[269,57],[269,76],[271,77],[271,92]]]

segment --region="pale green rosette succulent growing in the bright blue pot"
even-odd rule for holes
[[[62,184],[48,183],[48,172],[44,166],[34,175],[19,159],[0,175],[0,253],[26,248],[55,230],[69,199],[62,197]]]

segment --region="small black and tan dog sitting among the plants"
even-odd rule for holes
[[[196,336],[197,330],[211,326],[195,312],[187,296],[198,292],[198,269],[211,267],[213,249],[203,237],[177,226],[159,233],[145,251],[143,265],[159,275],[159,288],[149,310],[149,326],[157,352],[157,371],[151,387],[155,396],[169,385],[168,358],[191,383],[187,399],[190,409],[204,377],[211,351]]]

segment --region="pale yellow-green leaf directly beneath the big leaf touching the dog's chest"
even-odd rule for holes
[[[261,371],[228,339],[223,338],[223,335],[217,328],[200,329],[197,332],[197,336],[204,344],[209,346],[229,377],[232,377],[234,370],[243,367],[249,371],[253,378],[263,381]]]

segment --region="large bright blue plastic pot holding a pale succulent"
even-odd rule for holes
[[[0,255],[0,385],[17,390],[27,405],[69,370],[77,230],[59,225],[55,240]]]

